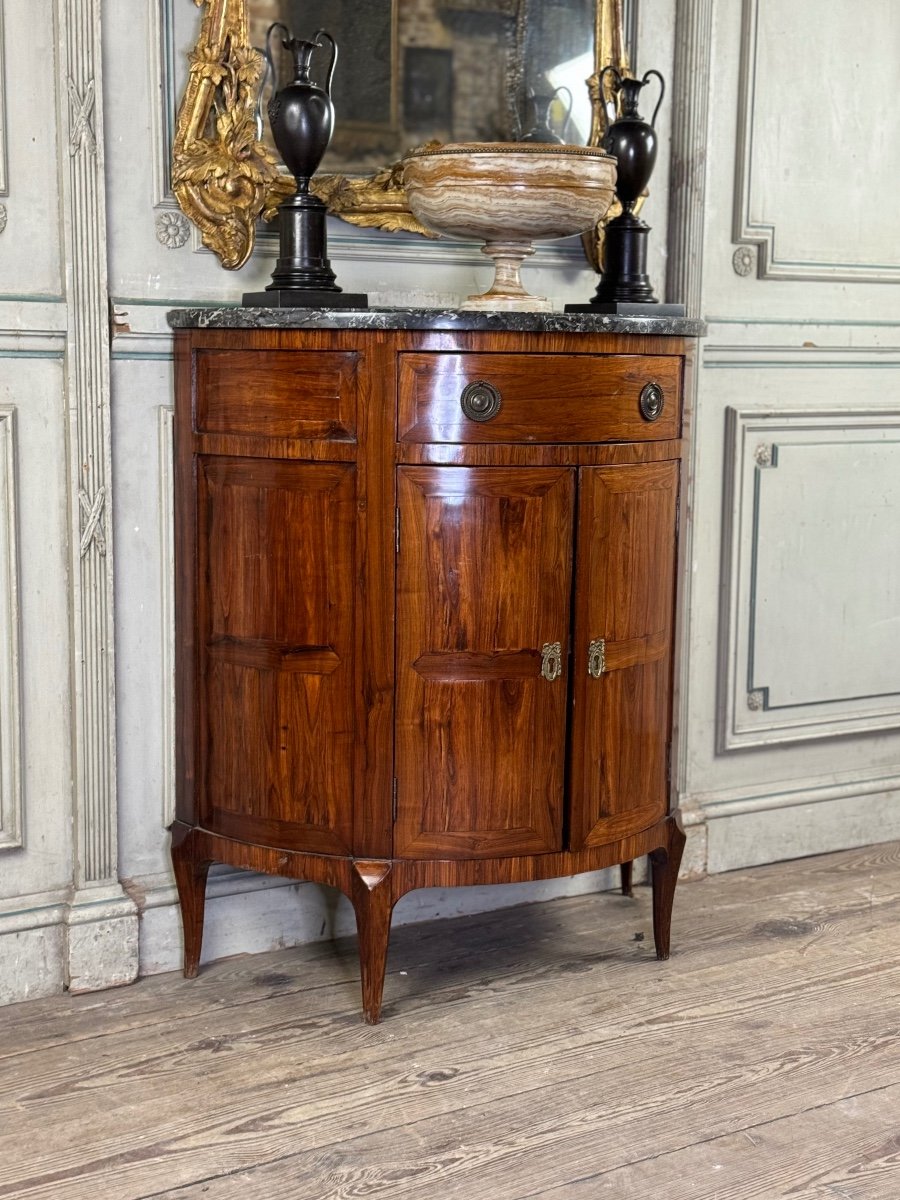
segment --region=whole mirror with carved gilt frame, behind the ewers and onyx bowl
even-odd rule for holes
[[[192,0],[184,0],[185,4]],[[265,32],[328,29],[341,46],[337,133],[313,180],[353,224],[431,236],[409,211],[400,160],[426,142],[560,139],[600,145],[599,72],[629,70],[637,0],[193,0],[197,44],[172,145],[172,187],[229,270],[293,180],[268,121],[257,140]],[[282,64],[282,80],[290,74]],[[313,71],[319,79],[325,71]],[[612,211],[612,210],[611,210]],[[599,233],[586,235],[596,268]]]

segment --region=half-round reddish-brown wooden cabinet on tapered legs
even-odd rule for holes
[[[668,956],[690,320],[180,310],[178,818],[211,863],[391,911],[649,854]]]

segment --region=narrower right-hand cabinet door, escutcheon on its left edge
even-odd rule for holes
[[[572,850],[644,829],[667,809],[677,505],[677,462],[581,472]]]

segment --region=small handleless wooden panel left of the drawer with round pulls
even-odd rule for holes
[[[194,428],[238,437],[356,439],[356,355],[199,350]]]

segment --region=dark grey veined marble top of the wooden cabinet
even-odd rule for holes
[[[476,312],[458,308],[173,308],[173,329],[506,330],[523,334],[652,334],[700,337],[694,317],[617,317],[593,312]]]

